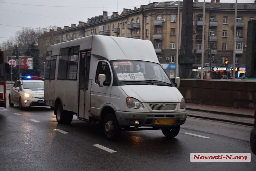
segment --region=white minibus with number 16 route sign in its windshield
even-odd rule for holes
[[[91,35],[47,48],[44,99],[57,122],[99,122],[108,140],[121,131],[177,136],[187,118],[180,78],[172,82],[148,40]]]

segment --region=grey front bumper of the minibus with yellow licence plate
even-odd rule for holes
[[[116,111],[119,126],[170,127],[182,125],[187,119],[187,112],[169,113],[134,113]]]

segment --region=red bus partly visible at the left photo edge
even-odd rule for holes
[[[9,64],[7,64],[9,68]],[[8,70],[8,68],[6,68]],[[7,71],[8,72],[8,71]],[[6,78],[4,52],[0,51],[0,107],[6,107]]]

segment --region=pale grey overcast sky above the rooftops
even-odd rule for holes
[[[164,0],[162,0],[164,1]],[[134,9],[140,5],[158,0],[0,0],[0,45],[22,27],[44,28],[48,26],[71,26],[79,21],[99,16],[103,11],[108,15]],[[165,0],[167,1],[167,0]],[[183,1],[183,0],[180,0]],[[211,0],[205,0],[210,2]],[[204,0],[199,0],[204,2]],[[236,0],[220,0],[220,3],[235,3]],[[237,0],[238,3],[254,3],[254,0]]]

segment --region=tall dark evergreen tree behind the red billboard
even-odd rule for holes
[[[36,43],[29,43],[28,49],[24,53],[27,57],[33,57],[33,69],[23,69],[22,75],[33,75],[33,76],[41,76],[42,75],[42,67],[40,65],[39,60],[39,49],[36,46]]]

